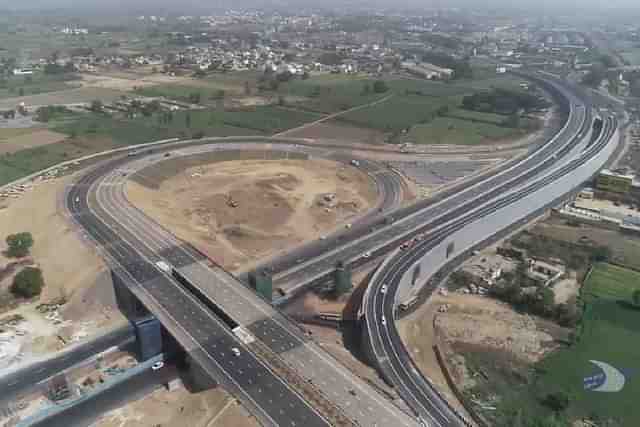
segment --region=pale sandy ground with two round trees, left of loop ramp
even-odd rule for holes
[[[20,314],[25,318],[17,328],[26,335],[11,332],[10,340],[26,358],[59,350],[125,321],[115,308],[111,276],[105,264],[80,240],[58,206],[59,194],[70,179],[42,182],[17,199],[0,199],[0,246],[4,249],[8,234],[32,233],[31,258],[42,269],[45,281],[37,301],[21,304],[0,316]],[[0,268],[11,261],[0,255]],[[6,291],[18,271],[5,277],[0,288]],[[59,310],[59,322],[36,310],[39,303],[61,296],[69,302]]]

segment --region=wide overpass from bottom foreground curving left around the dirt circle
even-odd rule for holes
[[[249,146],[255,149],[255,144]],[[181,147],[171,155],[225,148],[228,144]],[[313,384],[325,401],[338,402],[348,419],[359,425],[416,425],[412,417],[333,360],[270,304],[224,270],[207,264],[197,251],[126,200],[123,184],[128,177],[153,162],[166,160],[165,154],[127,156],[100,164],[69,188],[66,201],[73,219],[103,250],[116,273],[128,281],[187,352],[257,414],[262,424],[328,424],[314,406],[254,354],[254,348],[241,343],[202,298],[162,274],[154,265],[160,260],[188,277],[206,301],[222,307],[235,324],[246,327],[292,371]],[[233,347],[243,349],[240,356],[232,354]]]

